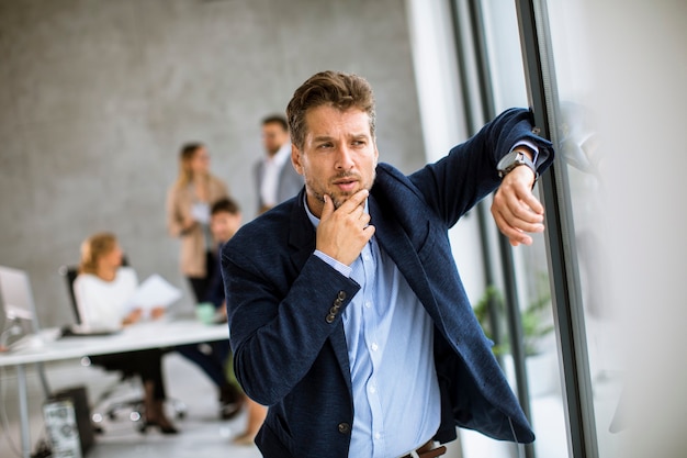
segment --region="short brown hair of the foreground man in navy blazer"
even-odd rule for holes
[[[305,114],[307,110],[320,105],[364,111],[370,116],[370,134],[374,138],[376,115],[370,83],[357,75],[328,70],[309,77],[295,90],[286,107],[291,141],[300,149],[303,148],[307,133]]]

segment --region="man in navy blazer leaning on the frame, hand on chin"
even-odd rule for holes
[[[286,111],[305,187],[222,254],[236,376],[269,406],[262,455],[435,457],[457,426],[532,442],[448,237],[497,188],[492,213],[514,246],[543,231],[531,187],[553,150],[531,113],[508,110],[405,176],[378,165],[364,79],[316,74]]]

